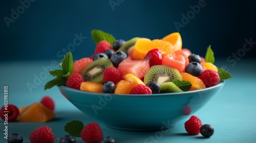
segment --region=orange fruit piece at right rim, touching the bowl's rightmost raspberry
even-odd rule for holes
[[[204,82],[198,77],[194,77],[188,73],[181,73],[181,76],[182,80],[191,82],[192,86],[189,91],[206,88]]]

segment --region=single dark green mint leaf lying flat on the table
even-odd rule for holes
[[[81,121],[71,121],[65,125],[65,131],[69,133],[71,136],[80,137],[81,131],[83,129],[83,124]]]

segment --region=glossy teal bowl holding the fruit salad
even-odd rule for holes
[[[161,94],[110,94],[58,86],[75,107],[106,127],[128,131],[171,128],[210,101],[224,86]]]

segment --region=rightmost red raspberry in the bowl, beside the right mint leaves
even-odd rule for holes
[[[201,79],[206,87],[214,86],[220,82],[220,76],[215,70],[206,69],[198,77]]]

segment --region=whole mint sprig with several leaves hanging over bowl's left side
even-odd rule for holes
[[[55,69],[52,71],[49,71],[49,73],[56,77],[55,79],[49,81],[48,83],[46,83],[45,85],[45,90],[46,89],[50,89],[52,87],[54,87],[55,85],[65,85],[68,77],[71,76],[72,72],[73,72],[73,56],[71,52],[68,52],[63,60],[62,60],[62,69]]]

